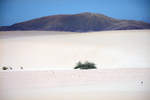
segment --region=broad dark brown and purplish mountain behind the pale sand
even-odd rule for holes
[[[1,26],[0,31],[46,30],[88,32],[103,30],[150,29],[150,24],[135,20],[119,20],[96,13],[53,15],[41,17],[11,26]]]

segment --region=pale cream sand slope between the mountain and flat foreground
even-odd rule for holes
[[[149,51],[150,30],[0,32],[0,66],[72,69],[88,60],[99,68],[150,68]]]

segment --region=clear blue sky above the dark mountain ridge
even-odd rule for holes
[[[150,0],[0,0],[0,26],[42,16],[81,12],[150,23]]]

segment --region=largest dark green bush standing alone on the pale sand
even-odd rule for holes
[[[86,61],[85,63],[81,63],[80,61],[74,67],[74,69],[96,69],[96,66],[92,62]]]

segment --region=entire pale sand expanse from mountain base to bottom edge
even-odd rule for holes
[[[150,100],[149,38],[150,30],[0,32],[0,66],[13,67],[0,70],[0,100]],[[74,70],[78,61],[98,69]]]

